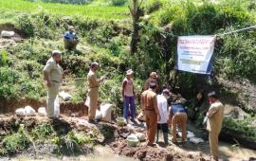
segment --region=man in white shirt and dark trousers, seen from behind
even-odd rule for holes
[[[171,97],[171,92],[164,89],[161,95],[157,95],[157,106],[161,119],[157,121],[156,140],[158,142],[159,131],[163,132],[164,143],[168,145],[168,121],[169,121],[169,107],[167,100]]]

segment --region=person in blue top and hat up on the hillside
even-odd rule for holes
[[[64,33],[64,48],[67,50],[75,50],[79,43],[75,27],[68,27],[68,31]]]

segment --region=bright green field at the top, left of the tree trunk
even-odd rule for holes
[[[28,2],[24,0],[0,0],[0,11],[6,10],[13,12],[37,12],[44,9],[46,12],[58,15],[82,16],[88,18],[101,19],[123,19],[128,18],[128,8],[91,5],[65,5],[50,4],[42,2]],[[12,14],[15,16],[14,14]],[[2,17],[3,18],[3,17]],[[9,17],[8,17],[9,18]]]

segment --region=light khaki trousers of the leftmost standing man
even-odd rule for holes
[[[46,112],[48,117],[54,116],[54,101],[57,98],[60,90],[61,83],[51,81],[51,86],[48,87],[47,100],[46,100]]]

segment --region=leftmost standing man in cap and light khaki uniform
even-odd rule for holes
[[[47,116],[54,117],[54,100],[58,97],[59,88],[63,79],[63,68],[59,64],[61,62],[61,51],[52,51],[52,57],[47,61],[44,68],[44,77],[46,80],[47,100],[46,111]]]

